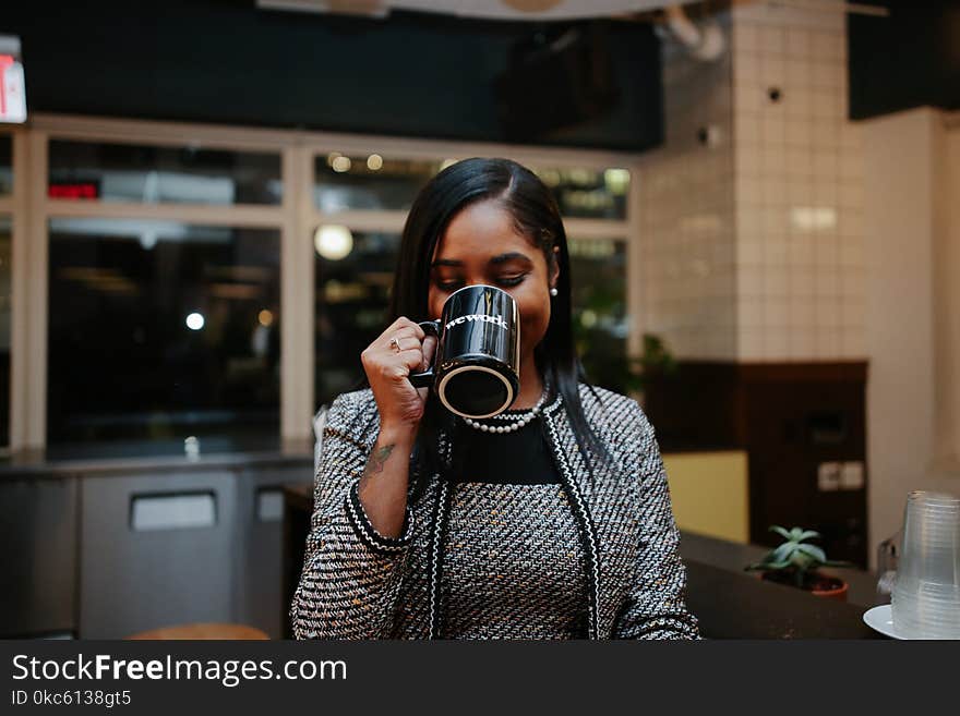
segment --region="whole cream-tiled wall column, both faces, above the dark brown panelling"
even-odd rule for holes
[[[720,20],[716,63],[664,44],[665,145],[641,173],[646,325],[684,359],[862,357],[845,17],[753,2]],[[698,144],[706,125],[719,146]]]

